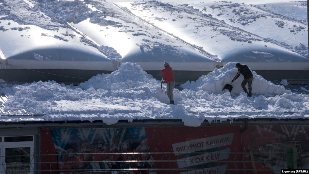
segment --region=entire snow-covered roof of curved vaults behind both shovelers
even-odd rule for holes
[[[303,62],[308,62],[307,58],[299,55],[308,57],[308,41],[303,43],[305,45],[298,46],[294,42],[294,45],[282,42],[287,41],[284,38],[291,41],[307,38],[307,33],[303,32],[306,29],[301,29],[301,26],[306,27],[303,26],[305,23],[274,15],[258,6],[212,2],[194,4],[194,8],[200,8],[194,9],[188,5],[154,1],[126,3],[77,1],[75,3],[33,0],[16,4],[14,1],[3,0],[2,8],[4,7],[5,9],[0,12],[2,22],[0,26],[3,31],[0,34],[5,40],[11,39],[11,42],[8,42],[9,44],[1,42],[0,50],[7,59],[41,60],[40,56],[42,56],[43,60],[46,60],[45,58],[65,61],[116,60],[140,62],[144,70],[151,68],[153,70],[151,63],[165,60],[175,63],[200,62],[207,67],[204,71],[212,71],[216,65],[215,61],[223,63],[230,61],[299,62],[299,67],[302,67]],[[208,11],[212,9],[210,15],[213,14],[213,17],[207,16],[207,9]],[[231,13],[226,10],[230,10]],[[236,12],[233,12],[234,10]],[[235,16],[235,14],[237,19],[245,18],[248,24],[241,25],[242,23],[238,23],[237,20],[235,22],[232,17],[231,20],[223,21],[223,18],[227,19],[226,15]],[[265,17],[261,17],[263,15]],[[252,16],[256,18],[253,19]],[[266,19],[267,16],[268,19]],[[290,22],[293,24],[296,22],[297,24],[295,23],[296,25],[292,27],[301,30],[303,35],[298,31],[291,33],[287,31],[287,27],[282,28],[280,21],[277,25],[275,18],[286,20],[283,22],[284,26],[292,25]],[[253,27],[253,24],[262,28]],[[279,25],[281,27],[277,27]],[[279,33],[275,32],[278,35],[273,33],[273,28],[279,29]],[[265,32],[266,29],[271,29],[272,32]],[[271,34],[272,38],[277,36],[281,38],[277,40],[265,38],[268,37],[262,35],[265,33]],[[292,39],[290,34],[295,35],[293,37],[296,39]],[[40,56],[36,58],[34,54]],[[106,56],[110,60],[106,59]],[[146,62],[150,64],[146,65]],[[44,63],[34,64],[40,66]],[[76,65],[72,64],[69,67],[76,68]],[[42,67],[45,68],[46,65]],[[53,65],[53,67],[57,66]],[[261,67],[267,67],[267,65],[251,67],[254,70],[261,70]],[[282,69],[282,65],[275,67]],[[94,66],[94,69],[98,68]],[[104,69],[109,70],[108,67]],[[307,69],[305,67],[298,70]],[[186,70],[195,71],[194,68]]]

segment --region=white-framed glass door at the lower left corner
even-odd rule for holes
[[[7,145],[2,146],[2,170],[6,174],[32,174],[33,173],[33,145]]]

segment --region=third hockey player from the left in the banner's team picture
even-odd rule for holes
[[[99,141],[97,143],[96,157],[95,161],[99,163],[101,169],[109,169],[111,168],[111,163],[108,162],[110,159],[110,151],[107,150],[108,144],[103,144],[103,142]]]

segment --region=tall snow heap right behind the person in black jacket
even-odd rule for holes
[[[184,89],[192,89],[194,91],[207,91],[208,93],[222,93],[222,89],[225,84],[231,84],[234,76],[237,74],[238,70],[235,64],[238,62],[229,62],[221,69],[215,69],[213,72],[207,74],[207,76],[201,76],[196,82],[191,83],[187,81],[186,83],[180,85]],[[250,68],[250,67],[249,67]],[[252,93],[259,95],[276,94],[282,95],[288,93],[283,86],[274,85],[271,81],[265,80],[262,76],[257,75],[256,72],[252,72]],[[233,82],[233,89],[231,93],[240,94],[243,92],[241,87],[241,82],[243,81],[243,76],[240,75],[235,82]],[[247,85],[246,85],[247,86]],[[247,87],[248,89],[248,87]]]

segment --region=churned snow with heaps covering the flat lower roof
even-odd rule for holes
[[[79,86],[55,81],[32,84],[0,85],[0,93],[8,96],[0,116],[2,121],[181,119],[184,125],[200,126],[206,119],[224,121],[233,118],[308,118],[308,98],[273,85],[253,72],[253,94],[242,91],[239,77],[232,94],[221,91],[236,74],[235,62],[188,82],[182,91],[174,89],[176,105],[160,90],[160,81],[142,71],[135,63],[124,63],[111,74],[101,74]],[[166,90],[166,85],[163,85]],[[235,96],[234,94],[240,94]],[[21,115],[19,111],[25,110]],[[10,112],[10,113],[9,113]],[[287,113],[290,112],[290,113]],[[34,115],[45,114],[45,115]],[[13,116],[12,116],[13,115]],[[16,115],[16,116],[14,116]],[[232,123],[232,121],[231,121]]]

